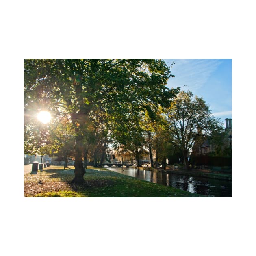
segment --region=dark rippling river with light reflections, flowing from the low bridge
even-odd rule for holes
[[[198,193],[211,197],[232,197],[232,182],[226,180],[192,177],[188,175],[148,171],[137,168],[109,167],[107,169],[139,178],[141,180],[175,187],[191,193]]]

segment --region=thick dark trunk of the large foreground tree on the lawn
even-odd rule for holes
[[[82,154],[83,154],[83,143],[82,143],[82,135],[77,135],[75,137],[75,178],[72,180],[72,183],[82,184],[84,180],[85,169],[83,167],[82,162]]]

